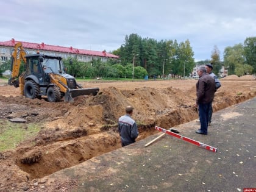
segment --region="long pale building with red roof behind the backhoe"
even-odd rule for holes
[[[23,48],[29,54],[35,54],[37,51],[39,51],[41,54],[60,56],[64,59],[73,57],[81,62],[90,62],[93,59],[101,59],[102,62],[106,62],[108,59],[119,58],[117,55],[110,54],[106,51],[90,51],[86,49],[73,48],[72,46],[66,48],[63,46],[45,43],[29,43],[24,41],[16,41],[14,38],[12,38],[10,41],[0,41],[0,62],[10,59],[10,52],[17,42],[21,42],[23,44]]]

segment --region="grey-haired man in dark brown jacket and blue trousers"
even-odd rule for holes
[[[197,69],[197,74],[199,79],[196,84],[195,106],[199,108],[201,127],[199,130],[196,130],[196,133],[207,135],[209,110],[216,90],[215,80],[213,77],[206,73],[205,66],[200,66],[199,69]]]

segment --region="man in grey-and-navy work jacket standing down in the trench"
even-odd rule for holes
[[[138,137],[138,127],[136,122],[132,119],[133,107],[126,107],[126,115],[123,115],[118,120],[118,131],[121,137],[122,147],[135,143]]]

